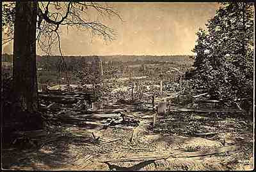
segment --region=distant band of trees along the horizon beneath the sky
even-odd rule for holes
[[[3,61],[12,62],[12,55],[3,54]],[[63,62],[63,59],[65,63]],[[127,66],[133,64],[148,64],[156,62],[169,62],[173,64],[190,64],[189,55],[90,55],[90,56],[41,56],[36,55],[37,67],[44,68],[47,71],[65,71],[67,64],[68,71],[79,71],[83,69],[84,64],[95,60],[102,59],[103,66]]]

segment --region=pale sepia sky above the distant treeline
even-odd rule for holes
[[[109,3],[122,17],[104,19],[116,39],[91,38],[62,28],[63,55],[191,55],[196,31],[215,15],[218,3]],[[10,54],[12,44],[3,47]],[[41,55],[40,50],[37,51]]]

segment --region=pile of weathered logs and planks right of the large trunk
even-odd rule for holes
[[[93,109],[92,96],[90,92],[41,92],[40,110],[45,120],[58,125],[138,125],[138,120],[125,115],[125,109]]]

